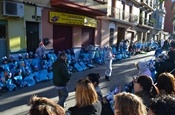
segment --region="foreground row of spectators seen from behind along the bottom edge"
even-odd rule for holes
[[[32,96],[29,115],[175,114],[175,78],[170,73],[162,73],[156,85],[150,76],[138,76],[133,80],[134,92],[118,92],[113,96],[112,106],[101,93],[99,79],[96,73],[79,79],[75,86],[75,106],[67,110],[48,98]],[[162,81],[168,85],[162,85]]]

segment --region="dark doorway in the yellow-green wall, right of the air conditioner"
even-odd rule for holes
[[[39,40],[39,23],[26,22],[27,52],[35,53],[40,42]]]

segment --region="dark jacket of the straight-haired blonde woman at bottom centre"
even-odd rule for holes
[[[86,107],[74,106],[68,109],[70,115],[101,115],[102,105],[98,101]]]

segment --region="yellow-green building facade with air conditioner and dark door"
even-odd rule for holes
[[[42,39],[42,6],[45,2],[0,1],[1,39],[5,40],[8,55],[15,52],[35,51]]]

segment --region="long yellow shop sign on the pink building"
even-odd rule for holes
[[[97,20],[69,13],[61,12],[50,12],[49,21],[52,23],[62,23],[62,24],[73,24],[73,25],[82,25],[88,27],[97,27]]]

